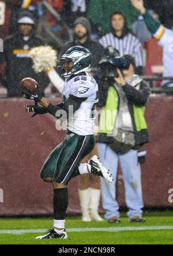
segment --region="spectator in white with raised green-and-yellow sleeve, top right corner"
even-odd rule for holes
[[[144,7],[143,0],[131,0],[131,3],[134,7],[140,10],[144,21],[152,33],[153,37],[159,40],[159,45],[163,47],[163,66],[164,66],[164,77],[172,77],[172,65],[173,65],[173,51],[172,51],[172,42],[173,42],[173,32],[171,29],[165,28],[158,20],[155,20],[151,15],[149,15],[148,10]],[[171,89],[172,83],[169,80],[164,80],[164,85],[167,88],[167,84],[170,83],[168,90]]]

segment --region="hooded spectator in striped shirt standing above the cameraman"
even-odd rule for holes
[[[126,18],[121,12],[111,14],[112,31],[102,36],[99,42],[104,48],[113,46],[119,51],[119,55],[131,54],[136,59],[136,72],[143,73],[141,44],[136,36],[127,27]]]

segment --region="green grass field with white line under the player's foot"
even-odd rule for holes
[[[69,239],[36,240],[52,227],[52,218],[0,218],[0,244],[173,244],[173,211],[145,212],[145,223],[82,222],[67,216]]]

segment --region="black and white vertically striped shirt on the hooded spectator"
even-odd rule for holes
[[[119,55],[122,57],[125,54],[131,54],[135,57],[136,66],[143,66],[141,43],[136,36],[128,33],[123,38],[118,38],[112,34],[112,32],[102,36],[99,39],[99,43],[104,48],[107,46],[113,46],[119,51]]]

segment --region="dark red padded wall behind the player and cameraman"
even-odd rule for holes
[[[50,99],[52,103],[58,100]],[[39,177],[39,170],[65,131],[57,131],[57,119],[49,114],[31,118],[25,99],[0,100],[0,188],[3,203],[0,215],[52,214],[52,186]],[[145,206],[170,206],[168,190],[173,188],[173,97],[151,97],[146,108],[151,142],[142,165]],[[79,213],[77,177],[69,183],[67,213]],[[118,185],[118,201],[125,206],[123,184]]]

